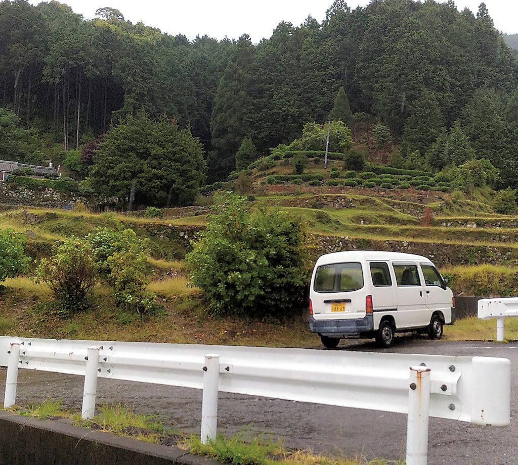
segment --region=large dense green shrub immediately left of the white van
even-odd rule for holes
[[[215,196],[214,215],[186,256],[191,282],[217,314],[285,317],[303,295],[300,219],[261,208],[252,217],[244,199]]]

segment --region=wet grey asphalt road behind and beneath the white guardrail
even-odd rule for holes
[[[323,349],[322,349],[323,350]],[[375,351],[372,343],[337,350]],[[482,355],[511,360],[511,425],[506,428],[473,426],[430,418],[428,464],[516,465],[518,463],[518,343],[442,342],[398,337],[391,349],[399,353]],[[18,402],[61,399],[80,408],[83,378],[20,370]],[[0,372],[0,393],[5,371]],[[98,380],[98,403],[123,403],[136,412],[160,416],[182,431],[199,432],[202,393],[195,389],[116,380]],[[219,431],[245,436],[265,433],[282,438],[289,447],[309,448],[331,455],[364,455],[369,459],[404,459],[406,415],[300,403],[221,393]]]

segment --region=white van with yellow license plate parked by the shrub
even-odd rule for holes
[[[327,348],[341,338],[376,338],[391,347],[396,332],[442,337],[455,322],[453,292],[426,257],[354,250],[327,253],[315,263],[309,327]]]

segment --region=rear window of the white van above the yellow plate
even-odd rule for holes
[[[363,288],[362,265],[333,263],[316,269],[313,289],[316,292],[351,292]]]

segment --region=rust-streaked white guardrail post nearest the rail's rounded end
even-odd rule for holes
[[[406,465],[426,465],[428,461],[429,406],[430,369],[410,367]]]

